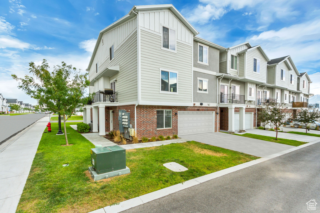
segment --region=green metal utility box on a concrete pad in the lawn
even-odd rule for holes
[[[97,174],[125,169],[125,149],[117,145],[92,148],[91,164]]]

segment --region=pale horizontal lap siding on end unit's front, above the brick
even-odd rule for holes
[[[177,53],[161,49],[161,36],[141,29],[141,100],[191,102],[192,46],[177,42]],[[160,93],[160,70],[178,72],[178,94]]]

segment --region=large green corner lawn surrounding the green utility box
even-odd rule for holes
[[[73,146],[61,146],[63,135],[43,133],[17,212],[90,212],[258,158],[195,141],[140,148],[126,153],[131,174],[92,181],[87,170],[94,145],[69,126],[73,124],[67,124]],[[173,161],[188,170],[163,166]]]

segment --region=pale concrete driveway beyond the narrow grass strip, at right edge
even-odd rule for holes
[[[245,133],[276,137],[275,131],[268,131],[268,130],[261,130],[261,129],[246,129],[245,131],[246,131]],[[244,134],[244,133],[237,133],[237,134]],[[278,132],[278,138],[303,141],[303,142],[312,142],[312,141],[319,140],[318,137],[314,137],[314,136],[281,133],[281,132]]]

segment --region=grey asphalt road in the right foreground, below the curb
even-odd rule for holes
[[[320,142],[128,209],[133,212],[320,211]]]

